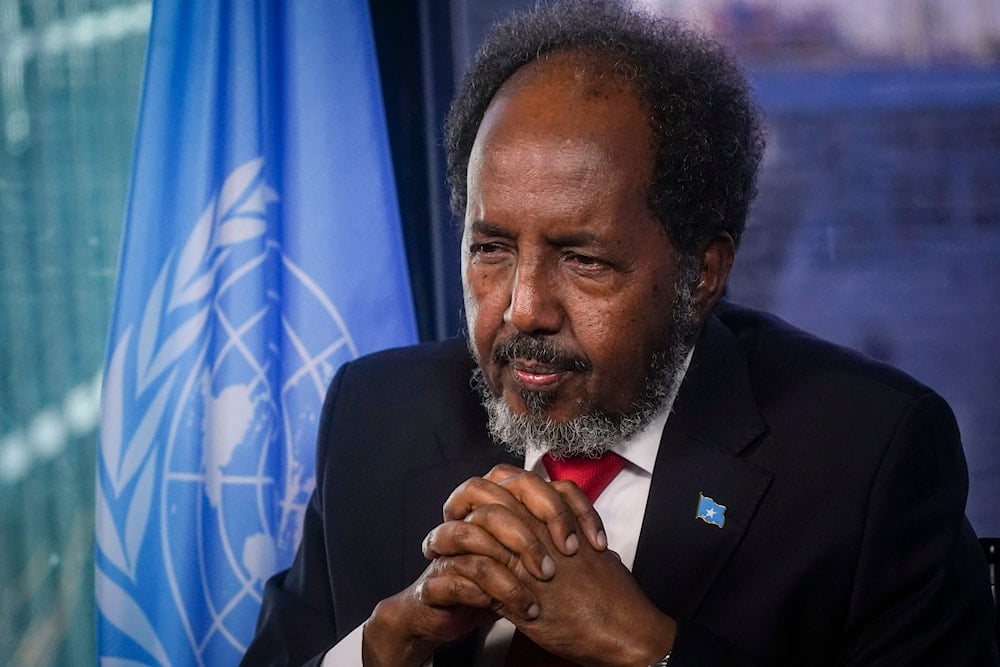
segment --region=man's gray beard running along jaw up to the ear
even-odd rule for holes
[[[502,396],[493,393],[477,365],[472,385],[482,397],[486,427],[493,439],[517,456],[547,451],[556,458],[597,458],[639,433],[666,408],[683,379],[697,318],[694,285],[698,277],[697,264],[683,258],[671,307],[670,338],[662,351],[653,355],[642,390],[621,414],[598,411],[557,422],[545,414],[548,396],[533,392],[522,393],[528,411],[515,414]]]

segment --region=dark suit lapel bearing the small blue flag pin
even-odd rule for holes
[[[739,454],[764,432],[739,342],[710,316],[663,432],[633,567],[667,613],[694,615],[749,525],[771,473]],[[722,527],[697,518],[702,496],[725,506]]]

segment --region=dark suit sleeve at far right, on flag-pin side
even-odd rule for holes
[[[967,492],[955,418],[925,394],[900,421],[871,488],[840,664],[998,664]]]

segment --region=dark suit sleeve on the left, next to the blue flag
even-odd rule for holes
[[[260,616],[242,665],[316,665],[336,643],[337,623],[327,568],[322,507],[327,434],[333,405],[346,372],[341,367],[327,393],[316,452],[316,489],[306,507],[302,542],[291,568],[264,586]]]

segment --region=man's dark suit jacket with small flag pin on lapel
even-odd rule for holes
[[[462,341],[334,379],[291,570],[245,664],[302,664],[426,566],[465,479],[512,461],[484,430]],[[657,456],[633,574],[678,619],[671,665],[997,665],[967,473],[946,403],[899,371],[720,305]],[[695,519],[699,494],[726,506]],[[471,665],[472,642],[435,657]]]

